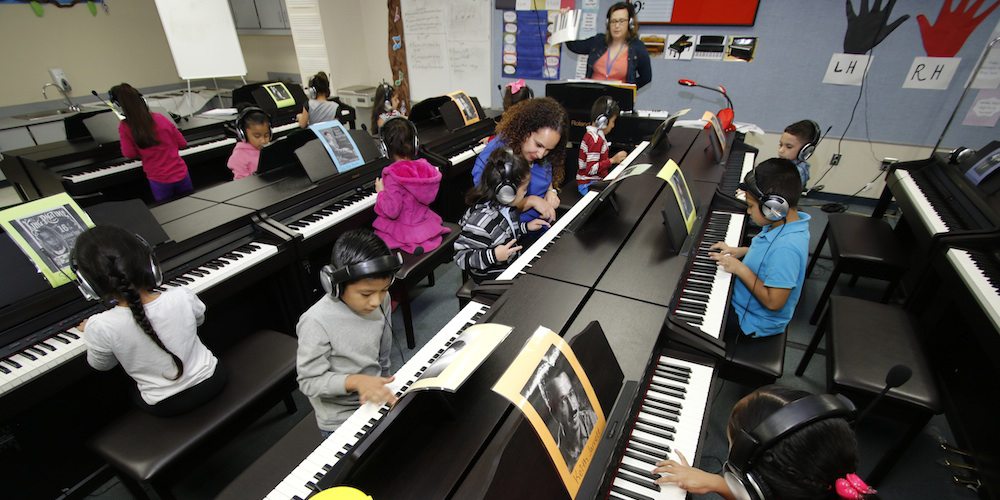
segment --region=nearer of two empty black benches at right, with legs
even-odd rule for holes
[[[885,388],[889,369],[901,364],[913,375],[891,389],[878,404],[878,413],[903,422],[906,431],[864,476],[877,485],[899,460],[932,416],[941,413],[941,395],[924,357],[916,320],[904,309],[854,297],[830,297],[830,307],[813,334],[795,370],[801,376],[827,335],[827,390],[843,394],[862,409]]]

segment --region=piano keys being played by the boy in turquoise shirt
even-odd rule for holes
[[[729,289],[733,275],[709,257],[708,249],[717,241],[739,246],[746,216],[713,211],[705,222],[698,249],[688,264],[673,314],[715,338],[722,335],[722,323],[729,310]]]

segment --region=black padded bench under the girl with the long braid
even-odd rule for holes
[[[173,498],[170,484],[185,465],[231,441],[280,401],[295,412],[294,337],[261,330],[222,353],[228,375],[215,399],[183,415],[132,410],[102,429],[91,448],[136,498]]]

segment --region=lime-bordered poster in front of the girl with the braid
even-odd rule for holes
[[[93,226],[90,216],[66,193],[0,211],[0,227],[52,288],[76,279],[70,253],[77,236]]]

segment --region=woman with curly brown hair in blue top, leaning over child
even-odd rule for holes
[[[521,221],[553,221],[559,207],[556,190],[563,181],[568,119],[562,105],[549,97],[521,101],[503,114],[496,138],[479,153],[472,182],[479,184],[486,161],[498,148],[510,147],[531,165],[528,194],[516,207]]]

